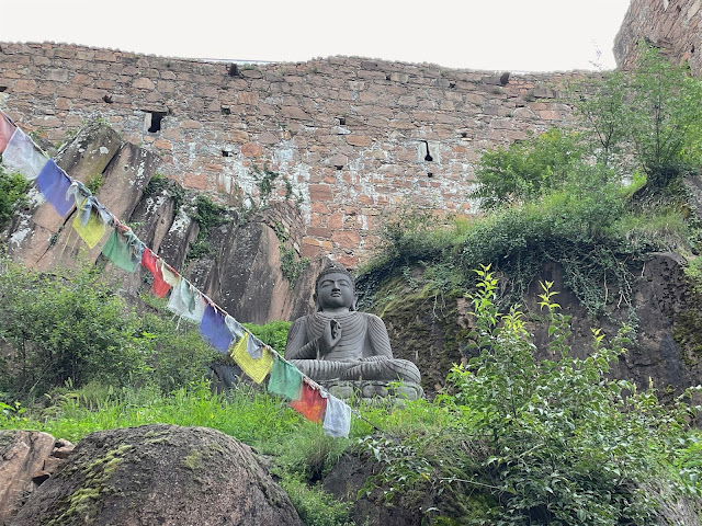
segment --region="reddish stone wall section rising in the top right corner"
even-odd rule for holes
[[[675,61],[687,60],[702,73],[702,0],[631,0],[614,39],[616,65],[631,68],[638,42],[661,48]]]

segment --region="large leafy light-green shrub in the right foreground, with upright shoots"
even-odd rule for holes
[[[643,526],[655,524],[661,500],[699,494],[690,457],[700,436],[688,424],[699,408],[682,398],[664,407],[653,388],[608,377],[626,328],[609,344],[595,330],[592,354],[571,357],[568,317],[545,284],[553,359],[537,362],[521,312],[500,312],[497,279],[489,268],[478,276],[471,342],[479,356],[454,367],[434,401],[452,422],[441,433],[363,441],[381,465],[376,484],[390,496],[433,494],[435,514],[455,524],[503,526]]]

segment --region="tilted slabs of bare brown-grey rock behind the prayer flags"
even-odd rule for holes
[[[244,208],[223,208],[226,219],[206,232],[202,242],[207,250],[194,256],[191,249],[201,230],[195,219],[199,193],[162,178],[149,185],[160,165],[158,156],[123,142],[104,124],[92,124],[55,160],[71,178],[99,187],[100,203],[239,321],[265,323],[312,308],[312,279],[321,260],[301,260],[303,225],[294,204],[273,203],[246,220]],[[35,187],[29,197],[30,205],[3,232],[12,258],[39,271],[104,259],[101,250],[110,228],[94,249],[88,249],[71,228],[75,211],[61,218]],[[105,272],[131,294],[145,287],[149,274],[143,268],[128,274],[110,264]]]

